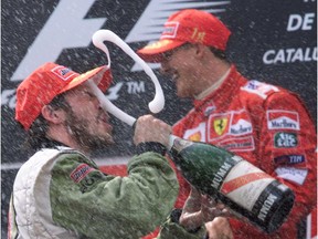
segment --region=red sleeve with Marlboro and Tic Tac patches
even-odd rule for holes
[[[263,103],[262,110],[254,112],[258,118],[258,167],[295,194],[287,220],[268,238],[296,238],[297,226],[316,205],[316,129],[297,95],[279,91]],[[255,228],[250,229],[259,235]]]

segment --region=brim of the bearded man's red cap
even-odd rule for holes
[[[60,93],[70,91],[71,89],[74,89],[91,79],[103,92],[109,87],[113,81],[110,70],[106,65],[103,65],[74,77],[64,89],[62,89]]]

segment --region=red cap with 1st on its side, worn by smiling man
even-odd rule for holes
[[[160,40],[146,45],[137,54],[147,62],[160,62],[161,53],[186,42],[202,43],[225,50],[231,31],[213,14],[186,9],[169,17]]]

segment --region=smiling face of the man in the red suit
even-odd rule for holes
[[[193,97],[200,93],[195,89],[198,71],[194,51],[195,45],[186,43],[162,55],[161,73],[172,79],[179,97]]]

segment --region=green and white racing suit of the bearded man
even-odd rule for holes
[[[64,146],[35,153],[14,180],[8,238],[137,239],[152,231],[173,208],[179,186],[158,154],[163,146],[145,144],[127,177],[106,175]]]

